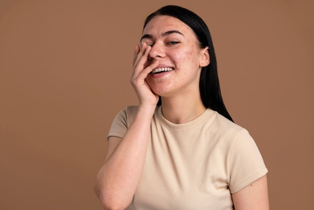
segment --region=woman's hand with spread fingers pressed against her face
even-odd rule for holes
[[[152,64],[145,67],[150,49],[151,47],[147,46],[145,42],[141,43],[141,48],[138,45],[135,46],[131,84],[137,94],[140,105],[156,106],[159,95],[153,93],[145,81],[147,75],[159,64],[158,61],[154,61]]]

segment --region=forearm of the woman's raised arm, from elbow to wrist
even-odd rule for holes
[[[104,206],[117,203],[126,207],[131,202],[142,174],[154,109],[138,108],[126,134],[100,169],[95,190]]]

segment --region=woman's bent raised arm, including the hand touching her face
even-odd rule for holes
[[[140,180],[148,138],[150,122],[159,96],[154,94],[145,78],[158,62],[144,68],[151,49],[142,43],[135,46],[131,83],[139,99],[139,107],[124,137],[108,139],[105,162],[99,170],[95,192],[105,209],[125,209],[132,201]]]

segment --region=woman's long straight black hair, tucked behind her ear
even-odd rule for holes
[[[202,68],[200,76],[201,99],[206,108],[217,111],[219,114],[233,122],[222,99],[217,72],[216,55],[207,25],[194,12],[179,6],[169,5],[162,7],[161,9],[147,16],[143,29],[152,18],[163,15],[177,18],[188,25],[196,34],[200,47],[209,47],[210,63],[209,65]],[[158,105],[161,103],[162,101],[160,97]]]

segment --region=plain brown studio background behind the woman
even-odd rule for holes
[[[273,210],[313,209],[313,1],[0,0],[0,209],[101,209],[93,183],[144,18],[208,24],[222,93],[269,169]]]

